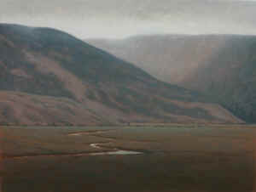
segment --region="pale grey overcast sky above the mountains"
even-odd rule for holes
[[[76,37],[256,34],[256,1],[1,0],[0,23],[47,26]]]

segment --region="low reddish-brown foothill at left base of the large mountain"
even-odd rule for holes
[[[86,106],[67,99],[0,91],[1,125],[108,124]]]

